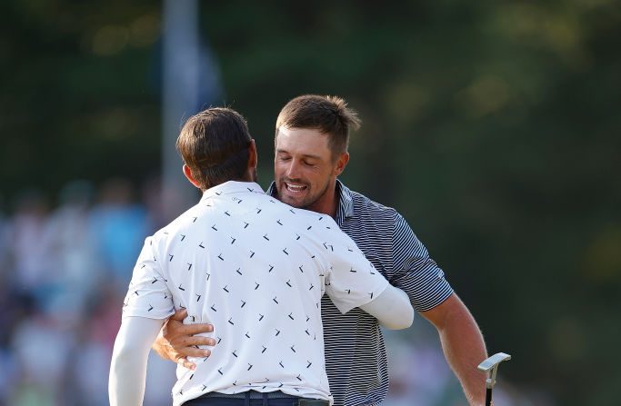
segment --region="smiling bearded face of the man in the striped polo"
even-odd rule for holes
[[[333,159],[328,141],[328,135],[316,129],[278,129],[274,174],[283,203],[319,213],[328,213],[336,206],[336,176],[343,171],[348,154]]]

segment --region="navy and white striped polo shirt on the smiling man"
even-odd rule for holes
[[[276,195],[275,183],[268,193]],[[336,223],[391,284],[407,293],[416,311],[446,301],[453,289],[401,214],[350,191],[340,181],[336,193]],[[327,296],[321,313],[335,406],[379,404],[388,392],[388,364],[376,318],[360,309],[341,314]]]

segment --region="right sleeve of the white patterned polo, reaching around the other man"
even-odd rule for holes
[[[336,308],[345,314],[373,301],[386,290],[388,281],[369,262],[356,243],[342,233],[336,223],[327,233],[326,293]]]

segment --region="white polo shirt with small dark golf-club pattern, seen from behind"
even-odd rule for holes
[[[211,356],[177,367],[174,405],[206,392],[283,391],[332,401],[321,296],[341,312],[388,285],[334,220],[295,209],[256,183],[227,182],[148,237],[124,317],[211,323]]]

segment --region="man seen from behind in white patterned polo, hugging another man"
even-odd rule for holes
[[[196,368],[179,366],[175,406],[328,405],[323,293],[340,312],[359,307],[395,329],[412,322],[406,293],[376,272],[331,216],[264,193],[240,114],[196,114],[177,149],[203,196],[145,241],[115,341],[111,404],[142,404],[149,349],[165,319],[185,309],[185,323],[218,327],[202,334],[215,347],[190,360]]]

